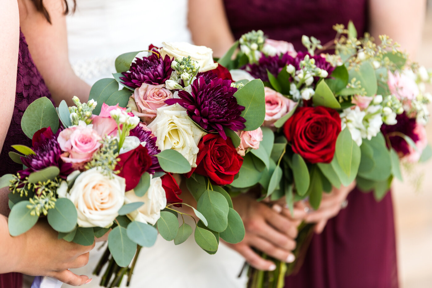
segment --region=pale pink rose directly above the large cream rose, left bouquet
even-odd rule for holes
[[[92,159],[93,153],[99,149],[102,137],[92,129],[92,125],[79,125],[64,129],[58,135],[61,159],[72,163],[74,169],[82,169],[86,162]]]

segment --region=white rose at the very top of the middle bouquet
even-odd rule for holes
[[[217,68],[217,63],[213,61],[213,50],[205,46],[192,45],[186,42],[162,42],[162,47],[159,50],[162,58],[165,55],[177,59],[182,57],[191,56],[192,60],[200,64],[199,72],[206,72]]]

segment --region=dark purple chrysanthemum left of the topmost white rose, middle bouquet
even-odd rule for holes
[[[168,55],[162,59],[159,52],[151,53],[150,56],[143,57],[143,59],[136,58],[135,62],[130,65],[129,71],[121,73],[124,75],[120,77],[124,81],[121,83],[132,88],[140,88],[143,83],[164,84],[173,71],[171,62]]]

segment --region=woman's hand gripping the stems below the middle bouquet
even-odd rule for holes
[[[273,209],[262,202],[240,195],[232,199],[235,210],[240,214],[245,224],[245,238],[237,244],[227,244],[236,250],[251,266],[260,270],[274,270],[276,265],[264,260],[253,248],[265,254],[291,263],[295,260],[292,250],[295,248],[297,226],[300,220],[289,217],[289,210],[280,205]],[[301,218],[301,215],[296,215]]]

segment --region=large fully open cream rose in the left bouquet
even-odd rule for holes
[[[67,185],[60,185],[57,193]],[[112,174],[103,175],[98,168],[82,172],[76,178],[66,197],[72,201],[78,213],[79,227],[109,227],[124,204],[124,178]]]

